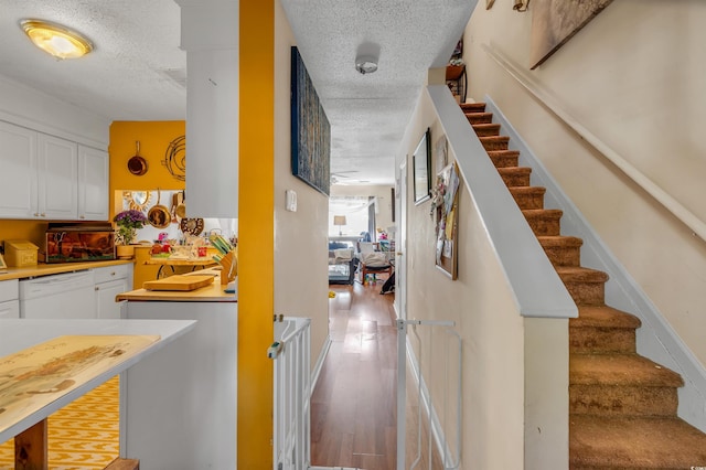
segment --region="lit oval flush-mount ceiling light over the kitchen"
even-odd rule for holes
[[[43,20],[22,20],[20,28],[39,49],[56,58],[77,58],[93,51],[92,42],[81,33]]]

